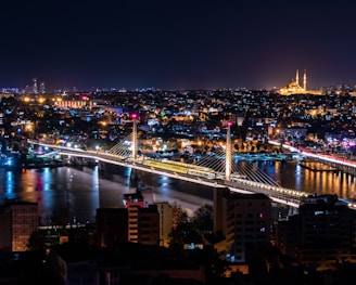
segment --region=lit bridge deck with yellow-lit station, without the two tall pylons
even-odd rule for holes
[[[244,174],[233,172],[230,176],[230,180],[226,180],[224,172],[215,171],[212,168],[199,164],[182,164],[168,159],[157,160],[143,155],[138,156],[137,159],[132,159],[131,156],[123,155],[124,153],[130,153],[128,150],[125,150],[127,146],[124,146],[124,148],[118,145],[114,146],[116,151],[119,151],[119,154],[115,154],[113,153],[113,150],[107,152],[82,151],[79,148],[53,145],[34,140],[28,140],[28,143],[42,145],[49,147],[51,151],[55,150],[55,152],[65,156],[97,159],[102,163],[130,167],[135,170],[163,174],[211,187],[229,187],[231,191],[239,193],[264,193],[274,202],[293,208],[298,208],[301,198],[309,195],[308,193],[281,187],[262,171],[252,167],[249,173],[247,170],[244,170]],[[253,173],[255,171],[256,173]]]

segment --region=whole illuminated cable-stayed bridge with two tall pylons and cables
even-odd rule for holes
[[[228,126],[226,138],[226,145],[196,158],[192,164],[178,163],[167,158],[152,158],[152,153],[140,150],[135,120],[132,132],[105,152],[100,148],[82,151],[77,147],[34,140],[28,140],[28,143],[47,146],[50,152],[58,152],[66,156],[130,167],[134,171],[141,170],[163,174],[211,187],[229,187],[232,192],[264,193],[271,200],[290,206],[292,209],[297,209],[301,200],[310,195],[310,193],[280,186],[254,164],[245,164],[243,168],[239,167],[238,156],[234,155],[231,146],[230,126]],[[349,206],[356,208],[355,204],[349,204]]]

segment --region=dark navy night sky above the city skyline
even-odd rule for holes
[[[0,3],[0,87],[280,88],[356,83],[354,1]]]

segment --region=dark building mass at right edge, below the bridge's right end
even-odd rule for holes
[[[355,261],[356,211],[335,195],[312,196],[298,215],[278,221],[276,245],[282,255],[316,269]]]

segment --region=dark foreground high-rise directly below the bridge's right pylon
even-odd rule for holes
[[[264,194],[214,192],[214,232],[224,237],[215,247],[230,262],[246,262],[270,244],[271,202]]]

